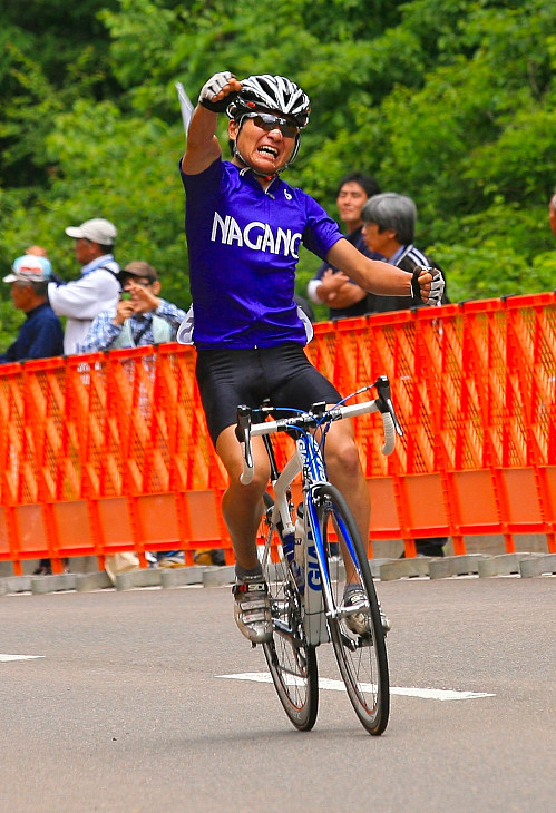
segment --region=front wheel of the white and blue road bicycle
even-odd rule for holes
[[[335,607],[335,615],[329,618],[330,637],[351,704],[363,727],[378,736],[388,724],[390,685],[384,633],[367,550],[353,516],[336,488],[322,486],[315,494],[315,503]],[[330,546],[336,541],[341,556],[330,552]],[[347,585],[358,581],[362,600],[357,613],[365,627],[361,635],[348,626],[353,626],[350,616],[353,619],[354,610],[344,605]]]

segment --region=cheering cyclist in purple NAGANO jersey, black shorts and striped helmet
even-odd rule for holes
[[[250,486],[240,483],[237,404],[257,406],[269,398],[273,406],[306,410],[315,401],[335,404],[341,398],[304,353],[311,331],[293,300],[300,243],[373,293],[413,291],[432,304],[443,288],[440,273],[411,276],[364,257],[313,198],[281,179],[299,151],[310,110],[309,97],[284,77],[238,81],[228,71],[215,74],[201,90],[179,164],[196,376],[211,438],[230,476],[222,511],[236,560],[234,615],[253,644],[272,636],[255,545],[270,471],[262,440],[255,438],[255,477]],[[231,161],[223,160],[215,135],[217,114],[224,111]],[[178,340],[187,341],[186,333],[178,333]],[[369,491],[349,421],[331,427],[325,457],[330,480],[344,494],[365,540]],[[358,600],[355,595],[353,603]]]

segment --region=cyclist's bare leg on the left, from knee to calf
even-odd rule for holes
[[[216,453],[230,476],[230,486],[222,499],[222,513],[232,538],[236,564],[245,570],[252,570],[259,564],[255,539],[264,510],[262,497],[270,477],[263,441],[253,438],[252,443],[255,476],[248,486],[243,486],[240,482],[243,458],[235,427],[224,429],[216,440]]]

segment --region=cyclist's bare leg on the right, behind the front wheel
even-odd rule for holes
[[[326,434],[324,453],[330,482],[342,492],[353,515],[361,539],[363,543],[367,543],[369,539],[371,501],[367,480],[359,460],[352,421],[336,421],[331,424]],[[359,578],[351,558],[345,558],[345,581],[347,584],[357,584]]]

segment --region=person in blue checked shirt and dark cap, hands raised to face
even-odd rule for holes
[[[100,311],[95,316],[82,343],[78,345],[78,353],[175,341],[177,329],[186,314],[158,296],[162,285],[156,268],[144,261],[134,261],[120,272],[119,278],[124,292],[120,301],[116,307]],[[147,558],[150,564],[158,564],[158,567],[185,565],[183,550],[147,554]]]

